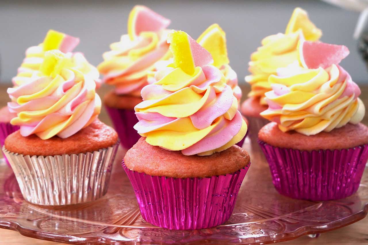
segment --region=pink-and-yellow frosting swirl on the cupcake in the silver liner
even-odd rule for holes
[[[50,50],[34,71],[20,72],[7,92],[11,112],[17,117],[22,136],[36,134],[41,139],[54,135],[67,138],[98,117],[100,97],[95,93],[99,73],[81,53]]]

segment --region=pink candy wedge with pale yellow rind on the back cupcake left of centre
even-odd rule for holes
[[[165,29],[170,24],[170,19],[155,13],[146,6],[137,5],[129,14],[128,35],[131,40],[141,32],[157,32]]]

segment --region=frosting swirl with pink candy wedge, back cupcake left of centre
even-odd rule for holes
[[[133,8],[128,34],[110,45],[111,51],[103,54],[104,61],[98,65],[103,81],[114,85],[116,94],[140,96],[141,89],[148,84],[148,72],[157,61],[170,56],[166,42],[169,24],[169,19],[147,7]]]

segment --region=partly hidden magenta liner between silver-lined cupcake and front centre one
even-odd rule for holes
[[[132,148],[132,146],[137,143],[138,139],[141,138],[141,135],[133,128],[133,126],[138,123],[135,111],[116,109],[109,106],[105,107],[107,113],[109,113],[114,129],[121,140],[121,145],[123,145],[125,149]]]

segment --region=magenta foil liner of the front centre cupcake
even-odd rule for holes
[[[210,178],[168,178],[122,166],[134,188],[142,217],[171,230],[197,230],[226,222],[250,167]]]

